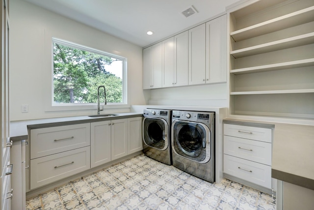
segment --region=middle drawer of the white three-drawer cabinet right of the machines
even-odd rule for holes
[[[224,136],[224,153],[271,166],[271,143]]]

